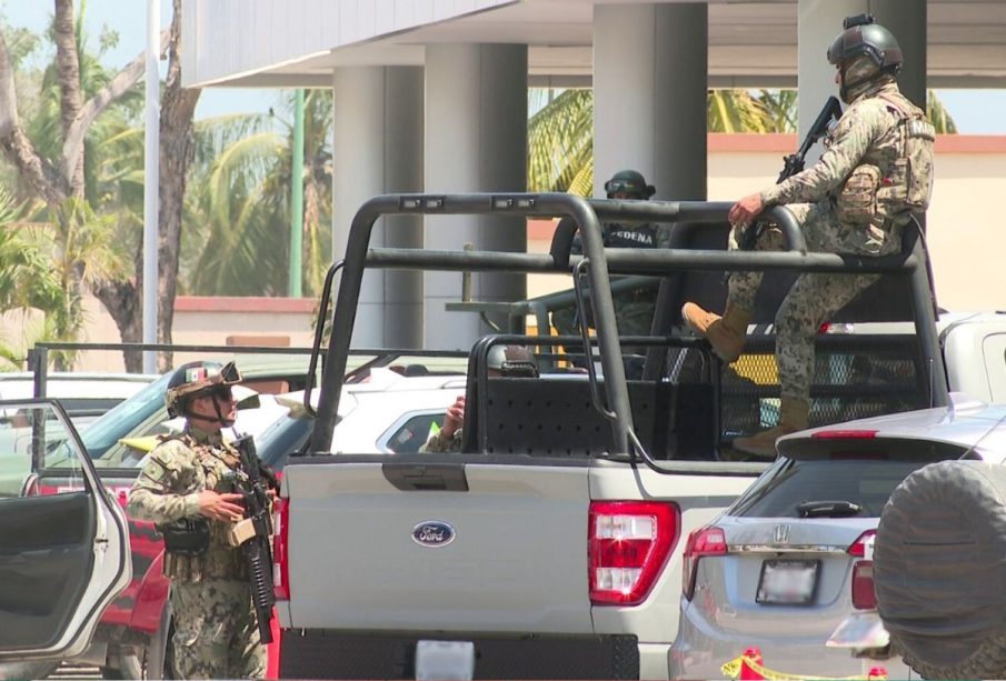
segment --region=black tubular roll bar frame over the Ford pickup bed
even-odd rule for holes
[[[353,217],[343,259],[332,336],[322,373],[322,391],[311,449],[328,451],[336,425],[342,377],[349,342],[356,321],[363,269],[406,268],[421,270],[476,270],[571,273],[581,260],[590,287],[590,304],[597,328],[597,345],[606,380],[614,443],[628,451],[633,429],[625,371],[616,330],[609,273],[669,276],[685,270],[794,270],[846,273],[894,273],[910,277],[916,333],[923,361],[930,367],[930,402],[948,400],[943,357],[936,338],[935,304],[924,264],[927,262],[918,226],[906,228],[903,252],[879,258],[806,252],[806,242],[793,213],[785,207],[766,211],[765,219],[778,224],[789,244],[783,252],[685,250],[685,234],[701,224],[719,228],[727,222],[730,204],[700,201],[616,201],[586,200],[565,193],[474,193],[474,194],[385,194],[367,201]],[[373,223],[392,214],[498,214],[512,217],[567,217],[580,231],[584,256],[568,256],[554,248],[549,254],[489,251],[429,251],[421,249],[368,249]],[[625,221],[678,222],[669,249],[606,249],[600,219]],[[568,222],[568,221],[567,221]],[[678,229],[685,228],[685,229]],[[915,230],[915,231],[913,231]],[[570,236],[571,239],[571,236]],[[914,239],[914,243],[910,240]],[[555,242],[554,242],[555,243]],[[661,297],[665,287],[661,286]],[[665,306],[666,307],[666,306]],[[668,310],[658,316],[667,317]],[[647,362],[649,365],[650,362]]]

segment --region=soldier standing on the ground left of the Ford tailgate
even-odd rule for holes
[[[222,437],[233,425],[233,363],[193,362],[171,375],[168,413],[186,429],[150,452],[130,490],[127,512],[165,535],[171,579],[175,669],[181,679],[261,679],[259,638],[248,571],[231,529],[245,515],[240,458]]]

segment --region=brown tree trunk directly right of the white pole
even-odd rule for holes
[[[192,118],[199,89],[181,87],[181,0],[173,0],[171,39],[168,43],[168,82],[161,107],[160,178],[161,204],[158,221],[158,329],[162,343],[171,342],[175,323],[175,297],[178,291],[178,258],[181,250],[181,219],[185,208],[186,176],[192,160]],[[170,353],[161,355],[161,369],[172,363]]]

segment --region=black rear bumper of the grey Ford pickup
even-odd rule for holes
[[[476,679],[639,679],[636,637],[465,637],[282,631],[281,679],[415,679],[416,642],[475,643]]]

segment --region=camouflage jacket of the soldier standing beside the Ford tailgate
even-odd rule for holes
[[[127,513],[136,520],[165,524],[199,517],[203,490],[233,492],[247,482],[238,452],[220,433],[188,429],[158,444],[129,492]],[[165,574],[181,581],[246,579],[241,550],[228,543],[229,522],[209,521],[210,545],[197,557],[165,553]]]

